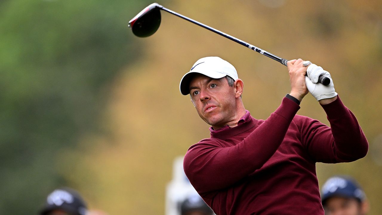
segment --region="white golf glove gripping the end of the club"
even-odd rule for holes
[[[308,88],[309,92],[317,99],[329,99],[337,96],[338,93],[334,90],[334,84],[330,73],[323,70],[322,67],[317,66],[316,64],[311,64],[306,71],[307,76],[305,76],[305,85]],[[320,75],[330,79],[330,84],[325,86],[321,83],[317,83]]]

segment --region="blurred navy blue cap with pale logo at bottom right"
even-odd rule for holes
[[[366,199],[366,195],[356,181],[347,176],[334,176],[329,178],[321,191],[322,205],[330,197],[354,198],[362,202]]]

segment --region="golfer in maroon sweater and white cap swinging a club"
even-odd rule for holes
[[[244,109],[243,81],[227,61],[199,59],[183,76],[181,94],[190,94],[199,116],[212,125],[211,137],[188,149],[183,168],[217,215],[323,215],[315,163],[366,155],[366,137],[335,92],[330,74],[309,64],[288,61],[291,91],[265,121]],[[330,78],[330,85],[317,83],[319,75]],[[296,115],[309,91],[331,128]],[[266,96],[255,102],[266,102]]]

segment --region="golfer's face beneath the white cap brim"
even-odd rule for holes
[[[207,124],[219,128],[235,120],[235,87],[229,86],[225,77],[213,79],[198,74],[193,77],[189,87],[191,101]]]

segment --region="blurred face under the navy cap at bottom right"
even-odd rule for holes
[[[353,198],[331,197],[326,201],[326,215],[365,215],[361,203]]]

